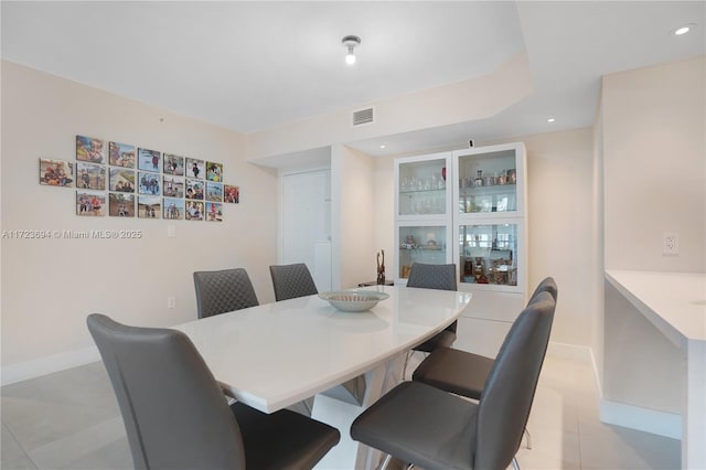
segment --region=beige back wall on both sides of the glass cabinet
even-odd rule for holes
[[[590,128],[518,137],[527,150],[528,286],[546,276],[559,286],[552,331],[554,343],[590,348],[591,322],[599,303],[593,253],[593,150]],[[446,149],[437,149],[446,150]],[[435,150],[435,151],[437,151]],[[432,152],[430,152],[432,153]],[[394,158],[375,161],[376,244],[385,248],[387,273],[394,266]]]

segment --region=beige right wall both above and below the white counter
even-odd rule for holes
[[[706,58],[700,56],[603,78],[608,270],[704,273],[706,268],[705,68]],[[678,232],[678,256],[662,254],[663,232]],[[683,352],[608,282],[603,339],[605,399],[680,413]],[[603,418],[622,424],[625,416]],[[656,423],[657,429],[666,427]]]

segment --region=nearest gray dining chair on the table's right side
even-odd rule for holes
[[[517,468],[556,302],[539,293],[514,321],[478,403],[403,382],[363,412],[351,437],[426,469]]]

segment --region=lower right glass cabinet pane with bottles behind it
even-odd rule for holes
[[[517,224],[459,226],[460,281],[517,286]]]

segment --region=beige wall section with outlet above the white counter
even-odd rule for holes
[[[607,269],[706,269],[705,64],[603,78]],[[678,256],[662,255],[664,232],[680,234]]]

